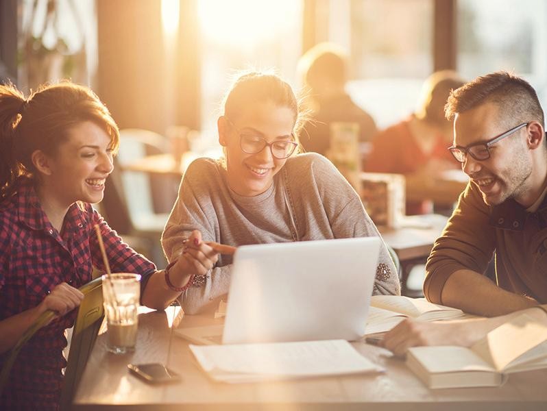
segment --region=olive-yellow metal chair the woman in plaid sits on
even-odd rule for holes
[[[69,359],[64,373],[64,382],[61,392],[60,409],[68,410],[74,396],[75,389],[80,383],[82,372],[89,358],[91,349],[95,344],[99,327],[104,316],[103,293],[101,277],[80,287],[84,299],[78,308],[74,324]],[[23,336],[11,349],[8,359],[5,361],[0,374],[0,393],[2,392],[12,366],[21,351],[21,347],[34,336],[38,329],[44,327],[53,319],[55,313],[51,310],[43,312],[36,321],[25,331]]]

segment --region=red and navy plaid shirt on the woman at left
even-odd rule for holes
[[[60,234],[40,208],[32,182],[19,180],[16,195],[0,203],[0,321],[38,306],[62,282],[75,288],[86,284],[92,265],[104,271],[95,224],[112,272],[140,273],[146,279],[156,271],[88,203],[83,210],[77,203],[69,208]],[[21,349],[0,398],[1,410],[57,409],[66,366],[64,329],[72,327],[76,314],[73,310],[52,321]],[[0,354],[0,366],[8,353]]]

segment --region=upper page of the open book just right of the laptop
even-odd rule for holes
[[[452,319],[463,316],[463,312],[457,308],[439,306],[430,303],[424,298],[409,298],[400,295],[373,295],[370,299],[370,305],[372,307],[406,314],[413,318],[422,316],[421,319],[424,321]],[[426,318],[424,314],[430,312],[437,312],[437,316],[430,319]]]

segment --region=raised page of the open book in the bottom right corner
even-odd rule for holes
[[[522,314],[493,329],[471,349],[498,371],[517,360],[526,351],[547,340],[547,325]]]

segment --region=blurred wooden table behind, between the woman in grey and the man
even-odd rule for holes
[[[422,291],[411,291],[407,280],[413,266],[425,264],[435,240],[441,235],[448,217],[439,214],[406,216],[400,228],[378,227],[384,241],[396,252],[401,264],[401,293],[421,297]]]

